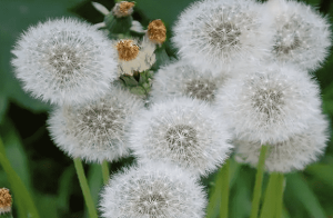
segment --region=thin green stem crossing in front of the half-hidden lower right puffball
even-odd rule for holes
[[[268,149],[269,149],[269,146],[265,145],[265,146],[262,146],[261,150],[260,150],[250,218],[258,217],[260,198],[261,198],[261,192],[262,192],[262,180],[263,180],[263,175],[264,175],[265,157],[266,157]]]

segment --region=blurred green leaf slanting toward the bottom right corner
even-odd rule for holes
[[[289,190],[292,191],[293,196],[303,204],[310,216],[326,218],[324,209],[321,207],[316,196],[300,174],[287,175],[286,186],[289,186]]]

